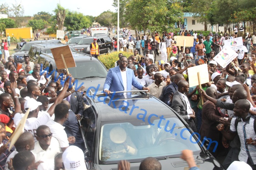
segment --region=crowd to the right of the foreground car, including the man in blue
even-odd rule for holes
[[[175,46],[176,35],[172,37],[171,34],[164,34],[162,40],[157,34],[151,40],[146,36],[147,42],[144,36],[141,40],[137,37],[135,43],[133,37],[129,38],[133,47],[136,47],[137,41],[140,41],[140,46],[131,56],[119,53],[115,67],[108,71],[105,93],[148,90],[152,96],[174,109],[200,135],[201,141],[215,140],[219,143],[216,151],[214,145],[208,150],[216,157],[225,156],[223,166],[226,169],[234,161],[245,162],[256,169],[256,41],[252,40],[251,54],[243,46],[236,51],[238,57],[233,60],[234,64],[229,63],[223,68],[214,57],[225,47],[224,40],[236,36],[227,33],[203,36],[195,31],[194,46],[190,48]],[[164,49],[163,43],[167,44]],[[161,61],[156,61],[156,49],[161,52]],[[197,59],[196,63],[192,63],[194,59]],[[199,86],[190,87],[188,68],[205,63],[209,82],[202,84],[201,89]],[[131,70],[133,77],[125,76],[130,75],[128,72]]]

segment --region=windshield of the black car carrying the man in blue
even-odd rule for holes
[[[100,164],[120,160],[140,162],[146,157],[179,157],[184,149],[200,153],[196,139],[176,116],[151,122],[152,125],[141,123],[140,120],[102,125]]]

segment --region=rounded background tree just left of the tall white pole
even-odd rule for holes
[[[114,12],[104,11],[99,16],[97,16],[96,21],[100,23],[101,26],[113,27],[114,24]]]

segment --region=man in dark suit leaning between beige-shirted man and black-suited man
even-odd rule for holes
[[[163,99],[165,104],[171,106],[172,103],[172,96],[178,90],[178,82],[181,80],[185,80],[182,74],[177,73],[174,77],[174,81],[169,84],[165,89],[163,89]]]

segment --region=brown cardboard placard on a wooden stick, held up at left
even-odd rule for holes
[[[69,46],[62,46],[51,49],[53,58],[55,60],[57,69],[66,69],[62,59],[62,55],[65,59],[67,68],[76,67],[75,60]]]

